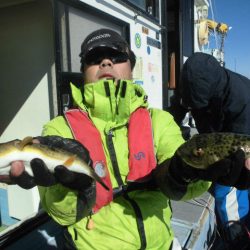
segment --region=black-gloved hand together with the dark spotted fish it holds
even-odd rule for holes
[[[193,136],[181,145],[175,157],[183,180],[208,180],[238,189],[250,187],[250,136],[209,133]],[[180,165],[180,164],[179,164]],[[174,170],[174,171],[173,171]]]

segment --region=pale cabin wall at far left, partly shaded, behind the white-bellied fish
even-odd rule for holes
[[[38,136],[54,114],[51,2],[1,1],[0,30],[0,142]],[[5,188],[11,217],[22,220],[38,211],[37,188]]]

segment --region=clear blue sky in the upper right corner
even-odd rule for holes
[[[226,67],[250,78],[250,0],[208,2],[212,3],[215,21],[232,27],[224,45]]]

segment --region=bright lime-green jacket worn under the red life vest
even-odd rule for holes
[[[106,145],[106,136],[114,131],[114,147],[123,181],[128,175],[127,123],[130,114],[139,107],[147,107],[147,96],[139,85],[127,82],[125,97],[120,97],[122,87],[116,93],[116,85],[109,80],[110,96],[106,96],[103,81],[86,84],[84,98],[81,91],[72,85],[75,105],[88,112],[90,119],[99,130],[107,167],[113,188],[118,187]],[[154,150],[157,163],[171,158],[184,142],[179,127],[173,117],[160,109],[149,109],[152,118]],[[72,133],[63,116],[56,117],[44,126],[43,135],[59,135],[72,138]],[[167,185],[167,183],[166,183]],[[182,199],[199,196],[209,187],[208,182],[198,181],[189,184]],[[171,187],[169,187],[171,188]],[[140,249],[141,241],[135,219],[135,211],[129,200],[118,197],[110,204],[92,215],[94,228],[88,230],[88,218],[76,221],[77,193],[57,184],[52,187],[39,187],[41,202],[47,213],[59,224],[67,226],[77,249]],[[175,191],[173,190],[172,193]],[[173,240],[170,225],[171,208],[169,198],[159,189],[136,190],[128,193],[129,198],[138,205],[146,235],[146,249],[169,249]],[[173,197],[171,197],[173,198]]]

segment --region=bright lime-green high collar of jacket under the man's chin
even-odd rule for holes
[[[75,106],[88,112],[91,119],[112,123],[116,127],[127,123],[130,114],[139,107],[148,107],[143,88],[131,80],[100,80],[84,85],[82,91],[71,84]]]

